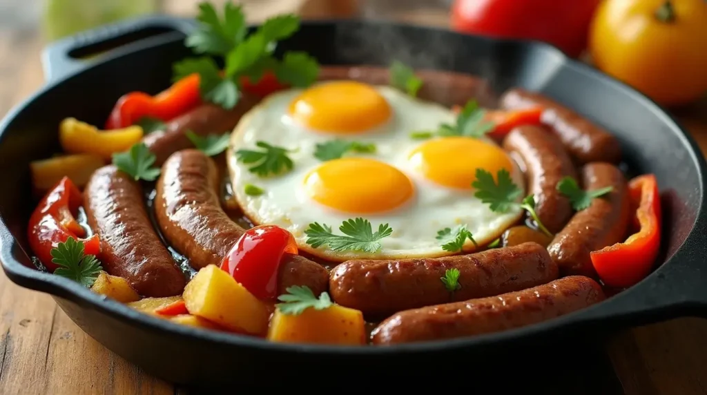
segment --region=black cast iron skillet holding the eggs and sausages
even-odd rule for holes
[[[64,117],[103,124],[123,93],[157,93],[168,86],[170,65],[189,55],[182,39],[191,28],[189,20],[151,17],[57,43],[45,52],[47,86],[0,124],[0,259],[8,277],[51,294],[81,329],[153,375],[179,383],[243,385],[274,369],[276,377],[296,380],[314,367],[326,366],[329,372],[347,367],[354,370],[347,375],[356,377],[346,382],[350,387],[375,373],[390,374],[391,367],[399,368],[398,374],[416,375],[422,366],[425,372],[442,370],[456,357],[473,355],[467,358],[471,366],[474,360],[511,351],[534,353],[565,344],[561,339],[605,334],[629,324],[707,315],[706,165],[694,141],[670,116],[636,91],[547,45],[382,22],[304,23],[279,50],[305,50],[322,64],[386,66],[399,59],[416,68],[471,73],[487,78],[496,92],[522,86],[578,110],[619,138],[633,172],[658,177],[665,263],[633,288],[559,319],[501,334],[390,348],[281,345],[177,326],[35,270],[25,242],[34,206],[28,163],[57,152],[57,127]],[[98,59],[75,59],[136,39],[142,40]]]

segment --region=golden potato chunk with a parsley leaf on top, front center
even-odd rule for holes
[[[363,313],[339,305],[327,309],[306,309],[299,315],[275,311],[267,334],[269,341],[322,343],[354,346],[366,344]]]

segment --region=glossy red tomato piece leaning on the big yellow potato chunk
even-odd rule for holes
[[[246,230],[223,258],[221,269],[259,299],[277,297],[277,273],[284,254],[297,254],[290,232],[274,225]]]

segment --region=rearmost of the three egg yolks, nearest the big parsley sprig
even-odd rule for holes
[[[390,105],[372,86],[355,81],[323,83],[290,103],[290,115],[317,131],[361,133],[390,119]]]

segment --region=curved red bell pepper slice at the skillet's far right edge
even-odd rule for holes
[[[655,175],[641,175],[629,182],[631,207],[636,209],[636,233],[623,243],[590,254],[604,284],[625,288],[648,276],[660,248],[660,193]]]

